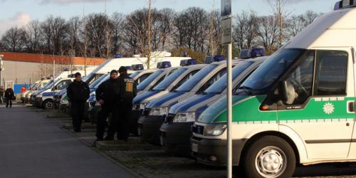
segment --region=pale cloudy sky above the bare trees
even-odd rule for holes
[[[337,0],[287,0],[288,11],[303,14],[307,10],[328,12],[333,10]],[[0,35],[10,26],[23,26],[31,20],[41,20],[46,16],[83,16],[93,12],[105,11],[105,0],[0,0]],[[154,0],[157,9],[164,7],[182,11],[190,6],[206,10],[220,8],[220,0]],[[147,6],[147,0],[107,0],[108,14],[114,11],[130,14],[135,9]],[[233,13],[252,9],[258,15],[271,14],[267,0],[232,0]]]

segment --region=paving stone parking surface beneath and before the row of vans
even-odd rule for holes
[[[53,112],[51,112],[53,114]],[[58,127],[70,123],[68,117],[49,117],[55,122]],[[70,130],[69,130],[70,131]],[[83,141],[85,145],[92,145],[95,140],[95,129],[83,129],[80,133],[72,133]],[[138,137],[130,137],[130,142],[120,143],[128,146],[135,145],[139,141]],[[110,144],[110,142],[106,142]],[[145,144],[140,142],[140,145]],[[150,148],[148,148],[150,147]],[[95,149],[95,148],[93,148]],[[195,178],[195,177],[226,177],[224,167],[210,167],[203,164],[198,164],[194,159],[184,157],[174,157],[168,155],[159,147],[152,148],[152,145],[147,144],[147,150],[140,149],[118,149],[118,150],[98,150],[114,159],[119,164],[122,164],[130,172],[135,173],[139,177],[157,177],[157,178]],[[239,170],[234,169],[234,173]],[[356,177],[356,164],[318,164],[308,167],[298,166],[295,170],[295,177]],[[241,174],[235,177],[244,177]]]

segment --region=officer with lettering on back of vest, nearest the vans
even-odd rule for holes
[[[136,83],[133,78],[127,75],[127,68],[120,67],[120,110],[119,110],[119,130],[117,139],[128,141],[130,135],[130,118],[132,110],[132,100],[137,94]]]

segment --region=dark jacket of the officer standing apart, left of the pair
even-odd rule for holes
[[[68,99],[71,103],[85,103],[90,95],[90,89],[87,83],[73,81],[67,88]]]

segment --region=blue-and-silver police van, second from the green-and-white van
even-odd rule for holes
[[[241,61],[233,61],[233,65],[238,65]],[[171,90],[169,93],[150,100],[146,105],[146,110],[150,110],[148,115],[140,117],[139,125],[141,129],[141,140],[159,145],[159,127],[161,127],[164,117],[168,115],[169,108],[182,100],[192,97],[195,94],[204,92],[206,88],[219,80],[226,73],[226,61],[211,63],[199,70],[192,78],[184,82],[179,88]]]

